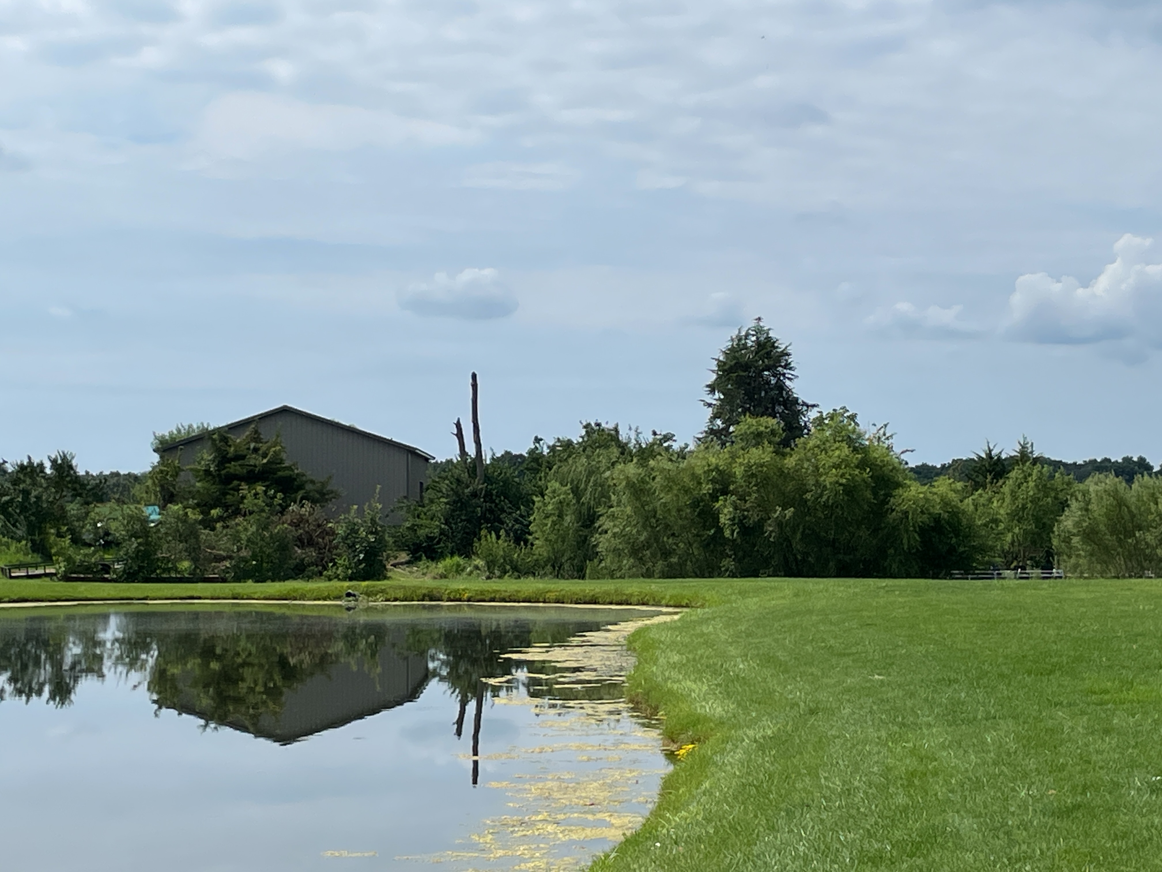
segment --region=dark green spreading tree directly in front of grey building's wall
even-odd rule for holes
[[[257,487],[284,506],[327,506],[338,495],[329,481],[318,481],[287,460],[277,434],[264,438],[254,426],[238,438],[214,430],[206,441],[207,450],[191,467],[194,487],[188,498],[188,505],[206,519],[241,515],[248,494]]]

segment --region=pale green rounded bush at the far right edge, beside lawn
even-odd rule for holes
[[[1162,576],[1162,477],[1127,485],[1111,473],[1093,476],[1057,522],[1054,545],[1070,576]]]

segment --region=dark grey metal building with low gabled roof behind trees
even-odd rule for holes
[[[331,486],[339,491],[333,503],[337,510],[364,506],[376,487],[385,513],[401,496],[423,498],[428,463],[435,459],[426,451],[293,406],[279,406],[215,429],[238,437],[254,424],[265,438],[281,436],[287,459],[301,470],[320,479],[330,477]],[[189,466],[205,449],[206,434],[196,434],[171,442],[158,453],[177,457],[182,466]]]

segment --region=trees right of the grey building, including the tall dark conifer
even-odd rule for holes
[[[799,399],[790,351],[761,322],[713,373],[694,446],[591,422],[575,439],[494,456],[482,477],[467,457],[445,462],[396,546],[489,576],[1162,572],[1162,484],[1148,462],[1129,483],[1120,469],[1079,483],[1023,441],[918,477],[884,428]]]

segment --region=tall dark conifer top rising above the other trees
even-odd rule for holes
[[[703,400],[710,409],[703,439],[727,444],[746,416],[780,421],[784,445],[806,434],[815,407],[791,388],[796,376],[790,345],[781,343],[761,319],[731,337],[715,359],[713,373],[706,385],[711,399]]]

